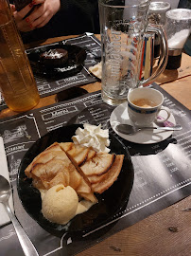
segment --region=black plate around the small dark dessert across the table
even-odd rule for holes
[[[44,51],[48,51],[49,49],[54,48],[63,48],[68,51],[68,60],[66,63],[62,64],[61,66],[45,66],[40,59],[40,55]],[[74,76],[77,74],[81,68],[84,60],[86,59],[86,51],[85,49],[79,46],[73,45],[50,45],[50,46],[43,46],[41,48],[32,49],[28,52],[27,57],[30,61],[32,70],[37,75],[45,75],[47,77],[52,76],[61,76],[62,78]]]

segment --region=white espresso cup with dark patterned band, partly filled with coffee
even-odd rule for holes
[[[136,88],[128,94],[128,113],[135,126],[149,126],[153,122],[164,122],[170,117],[170,110],[163,106],[164,96],[152,88]],[[157,119],[159,112],[165,111],[165,119]]]

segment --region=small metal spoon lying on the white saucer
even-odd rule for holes
[[[141,130],[165,130],[165,131],[180,131],[182,129],[181,125],[175,126],[165,126],[165,127],[136,127],[130,124],[118,124],[116,126],[116,131],[125,135],[134,135]]]

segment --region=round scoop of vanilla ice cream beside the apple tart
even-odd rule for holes
[[[77,209],[78,194],[70,186],[56,185],[43,196],[43,216],[53,223],[68,223],[76,215]]]

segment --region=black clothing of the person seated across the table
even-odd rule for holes
[[[61,0],[61,10],[41,28],[21,32],[24,43],[84,32],[99,33],[98,0]]]

